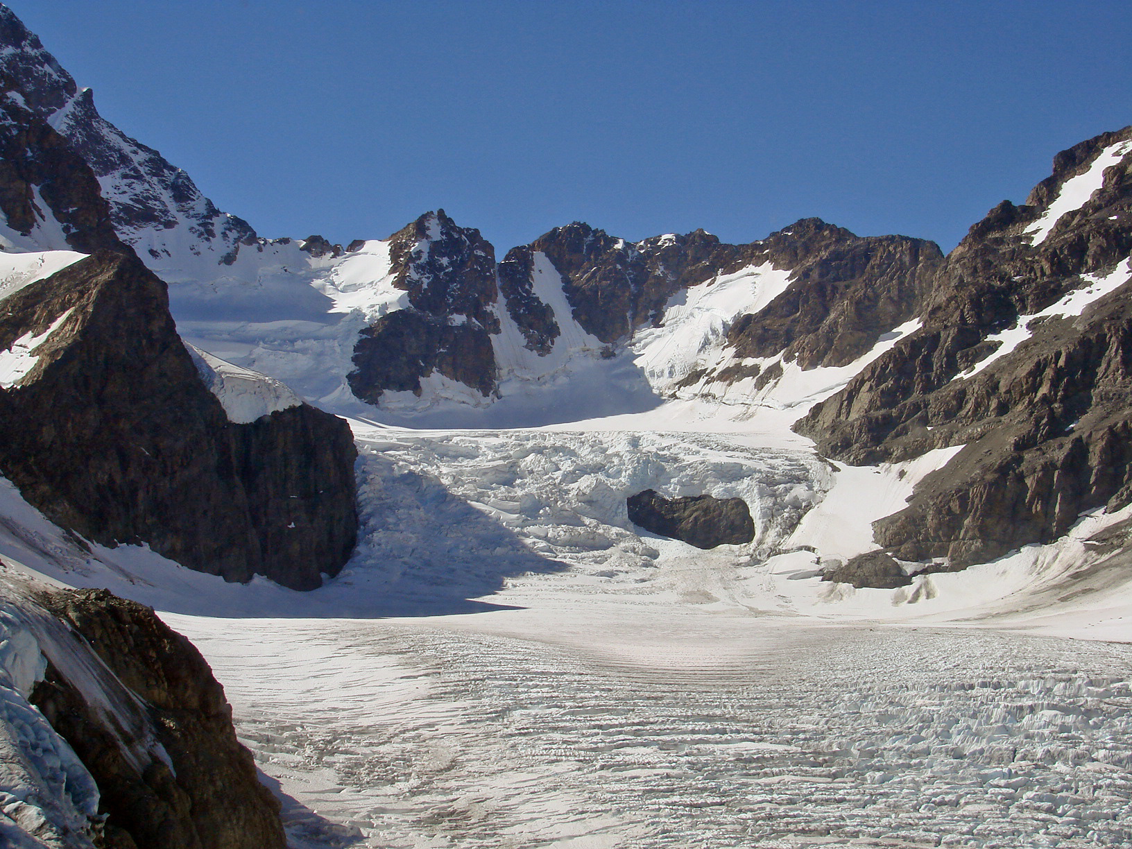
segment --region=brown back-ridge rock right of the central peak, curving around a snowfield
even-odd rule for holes
[[[681,289],[710,285],[751,265],[790,269],[789,289],[758,314],[738,318],[728,343],[736,358],[784,350],[803,368],[851,362],[916,315],[943,260],[934,242],[860,238],[820,218],[803,218],[749,245],[724,245],[702,230],[629,245],[575,222],[529,249],[544,252],[561,273],[578,324],[609,343],[655,325]]]

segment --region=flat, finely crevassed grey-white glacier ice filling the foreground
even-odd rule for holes
[[[1127,645],[601,603],[171,621],[297,847],[1132,839]]]

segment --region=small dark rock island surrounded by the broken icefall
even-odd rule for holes
[[[751,509],[741,498],[664,498],[652,489],[626,499],[629,521],[646,531],[696,548],[741,544],[755,538]]]

